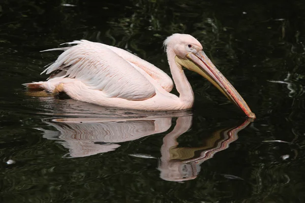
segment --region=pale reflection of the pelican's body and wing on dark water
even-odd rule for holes
[[[171,118],[155,119],[91,119],[58,118],[45,121],[58,132],[45,130],[44,138],[57,139],[68,148],[70,156],[83,157],[113,151],[115,143],[137,140],[150,134],[164,132],[171,126]]]

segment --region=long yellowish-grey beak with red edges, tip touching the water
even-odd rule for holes
[[[203,51],[198,51],[196,54],[188,53],[187,57],[196,65],[189,65],[187,69],[194,71],[209,80],[215,85],[226,97],[228,97],[235,105],[237,105],[250,118],[256,118],[251,112],[247,103],[231,83],[220,73],[210,59]]]

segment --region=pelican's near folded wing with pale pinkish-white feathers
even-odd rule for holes
[[[85,40],[68,44],[76,45],[51,49],[64,52],[42,74],[63,70],[65,72],[60,73],[60,76],[79,80],[109,97],[143,100],[155,95],[155,87],[128,61],[109,48]]]

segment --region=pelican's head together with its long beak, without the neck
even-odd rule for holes
[[[178,66],[194,71],[214,86],[216,86],[229,100],[237,105],[250,118],[255,118],[247,103],[231,83],[220,73],[216,66],[202,51],[202,45],[190,35],[174,34],[164,41],[166,49],[175,53],[175,62]]]

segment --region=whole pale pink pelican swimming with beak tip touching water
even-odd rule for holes
[[[218,71],[191,35],[175,33],[164,41],[171,75],[179,96],[170,91],[171,78],[155,65],[132,53],[86,40],[65,43],[75,45],[45,51],[64,51],[45,73],[52,75],[41,82],[25,83],[29,90],[43,90],[96,105],[167,111],[191,109],[192,87],[182,67],[194,71],[215,85],[250,118],[255,118],[247,103]]]

